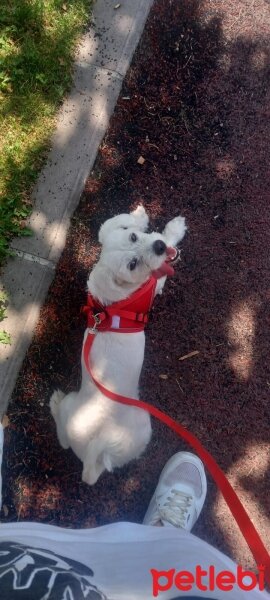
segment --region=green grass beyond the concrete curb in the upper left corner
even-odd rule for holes
[[[29,235],[30,194],[72,81],[91,0],[0,0],[0,264]]]

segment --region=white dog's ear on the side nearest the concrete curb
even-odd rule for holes
[[[148,225],[148,216],[144,210],[144,207],[140,204],[136,210],[129,214],[117,215],[108,219],[101,225],[99,230],[98,239],[101,244],[104,243],[106,235],[115,229],[129,229],[135,227],[140,231],[145,231]]]

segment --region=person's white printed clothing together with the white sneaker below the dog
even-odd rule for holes
[[[27,600],[39,600],[37,592],[44,597],[48,590],[58,598],[58,587],[61,594],[65,589],[74,591],[76,600],[151,600],[155,593],[159,600],[246,600],[246,591],[237,586],[210,593],[197,585],[179,590],[177,574],[192,575],[197,566],[207,571],[213,565],[216,574],[223,570],[237,573],[230,558],[188,531],[203,504],[204,477],[202,464],[193,455],[172,457],[161,474],[144,525],[114,523],[72,530],[38,523],[2,524],[1,600],[20,600],[26,594]],[[152,520],[164,526],[146,524]],[[207,581],[203,577],[203,585]],[[248,598],[270,600],[258,589],[250,591]]]

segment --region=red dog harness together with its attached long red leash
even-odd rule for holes
[[[220,469],[214,458],[202,446],[200,441],[185,427],[174,421],[169,415],[166,415],[158,408],[136,400],[135,398],[127,398],[116,394],[105,388],[94,376],[90,366],[90,352],[95,339],[96,332],[114,331],[118,333],[135,333],[144,329],[145,323],[148,321],[148,312],[152,306],[156,289],[156,279],[151,277],[137,292],[132,294],[126,300],[115,302],[109,306],[102,306],[95,298],[88,295],[87,306],[83,312],[88,316],[88,335],[86,336],[83,346],[83,360],[85,367],[95,383],[96,387],[111,400],[136,406],[142,410],[146,410],[152,416],[156,417],[165,425],[175,431],[180,437],[188,442],[196,451],[198,456],[204,462],[209,473],[212,475],[216,485],[226,500],[231,513],[233,514],[252,554],[256,564],[265,567],[265,579],[270,585],[270,556],[264,546],[257,530],[251,522],[245,508],[240,502],[233,487],[229,483],[226,475]],[[117,319],[116,319],[117,317]],[[117,325],[117,326],[115,326]]]

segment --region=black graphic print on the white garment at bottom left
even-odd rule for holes
[[[0,543],[1,600],[107,600],[85,565],[41,548]]]

